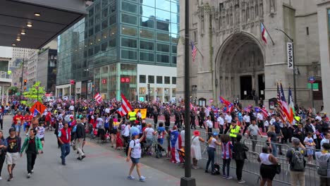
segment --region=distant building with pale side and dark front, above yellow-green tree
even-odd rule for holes
[[[55,94],[57,50],[39,51],[37,63],[37,81],[47,94]]]

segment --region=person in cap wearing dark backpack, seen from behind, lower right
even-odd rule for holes
[[[297,185],[298,181],[299,185],[305,186],[306,149],[296,137],[292,137],[291,142],[293,147],[286,153],[286,161],[290,164],[291,185]]]

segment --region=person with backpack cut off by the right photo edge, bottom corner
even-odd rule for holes
[[[330,185],[330,144],[324,143],[322,145],[322,151],[315,152],[315,159],[319,165],[317,174],[319,175],[319,185],[326,186]]]

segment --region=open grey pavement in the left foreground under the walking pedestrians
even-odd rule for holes
[[[4,118],[4,136],[8,137],[8,129],[11,125],[11,116]],[[23,135],[23,138],[25,135]],[[127,180],[130,163],[126,163],[123,154],[110,151],[97,144],[87,142],[85,153],[87,157],[78,161],[78,154],[71,151],[67,156],[66,166],[61,165],[61,151],[57,148],[54,132],[46,132],[44,154],[37,156],[34,171],[31,178],[27,178],[26,156],[18,159],[18,164],[13,171],[14,180],[7,182],[8,171],[6,163],[2,170],[0,185],[179,185],[180,179],[172,175],[158,171],[146,165],[142,165],[142,173],[146,182]],[[72,150],[72,149],[71,149]],[[138,177],[136,171],[133,173]]]

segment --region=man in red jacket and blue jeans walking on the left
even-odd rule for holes
[[[64,127],[59,131],[57,137],[61,144],[61,159],[62,165],[66,165],[66,156],[70,154],[70,141],[71,141],[71,130],[68,128],[68,123],[64,124]]]

